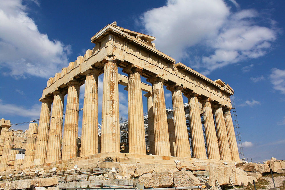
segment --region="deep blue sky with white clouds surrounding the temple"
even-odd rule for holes
[[[235,90],[246,158],[285,159],[284,7],[281,0],[1,1],[0,118],[38,119],[48,78],[92,49],[90,38],[117,21],[155,36],[158,50]],[[101,75],[99,98],[102,81]],[[82,108],[84,86],[80,90]],[[165,96],[169,107],[170,91]],[[146,98],[143,103],[146,112]],[[123,86],[120,116],[127,119]]]

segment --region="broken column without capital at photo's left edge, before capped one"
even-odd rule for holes
[[[0,171],[5,171],[7,168],[9,151],[13,148],[14,134],[13,132],[6,132],[4,147],[0,161]]]

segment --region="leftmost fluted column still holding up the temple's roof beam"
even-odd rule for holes
[[[34,156],[34,165],[46,163],[48,134],[50,130],[50,109],[52,105],[52,100],[44,98],[41,100],[41,102],[42,108],[40,110],[40,121],[38,124],[38,135]]]

